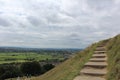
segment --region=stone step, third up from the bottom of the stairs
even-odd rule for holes
[[[104,68],[107,66],[106,62],[88,62],[85,67]]]

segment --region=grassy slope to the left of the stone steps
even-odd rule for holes
[[[56,68],[48,71],[46,74],[33,78],[32,80],[73,80],[79,74],[80,69],[92,56],[97,44],[86,48],[77,55],[68,59],[64,63],[58,65]]]

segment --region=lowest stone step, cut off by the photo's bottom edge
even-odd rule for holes
[[[105,79],[102,77],[80,75],[80,76],[77,76],[74,80],[105,80]]]

